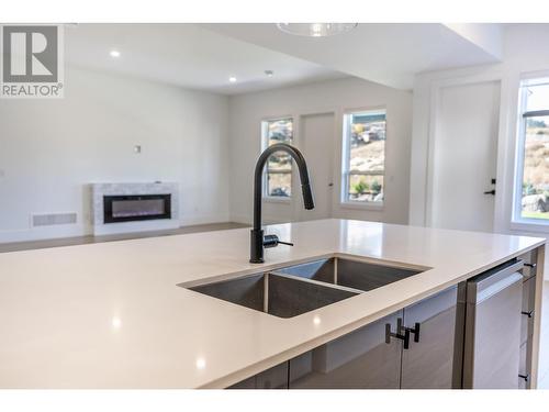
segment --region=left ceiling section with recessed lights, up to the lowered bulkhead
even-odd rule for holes
[[[69,65],[223,94],[348,76],[195,24],[70,24],[65,49]]]

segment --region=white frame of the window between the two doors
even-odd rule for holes
[[[383,171],[371,172],[350,169],[350,116],[356,114],[381,114],[385,115],[385,147],[383,159]],[[385,205],[386,186],[386,138],[388,138],[388,110],[385,105],[360,108],[346,110],[343,113],[343,137],[341,137],[341,168],[340,168],[340,193],[339,204],[348,209],[369,209],[382,210]],[[381,202],[369,200],[351,200],[349,199],[349,179],[350,176],[381,176],[383,177],[383,200]]]

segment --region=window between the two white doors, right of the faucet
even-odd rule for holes
[[[383,204],[385,110],[345,114],[341,197],[344,202]]]

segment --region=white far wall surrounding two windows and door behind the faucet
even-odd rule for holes
[[[388,131],[385,154],[385,205],[383,210],[350,209],[339,203],[339,170],[343,112],[349,109],[386,107]],[[300,146],[299,118],[302,114],[335,113],[335,153],[326,154],[333,162],[335,218],[406,223],[408,211],[408,172],[412,94],[356,78],[323,81],[266,92],[242,94],[229,99],[231,140],[231,218],[251,222],[253,172],[261,151],[260,123],[266,118],[292,115],[294,144]],[[310,170],[314,176],[314,170]],[[295,177],[298,178],[298,177]],[[302,200],[292,203],[264,201],[266,222],[296,220]],[[298,202],[298,203],[295,203]]]

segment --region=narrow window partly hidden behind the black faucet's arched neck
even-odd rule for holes
[[[261,124],[264,148],[276,143],[292,143],[293,119],[267,120]],[[284,153],[273,153],[267,162],[265,172],[265,196],[289,198],[292,196],[292,157]]]

